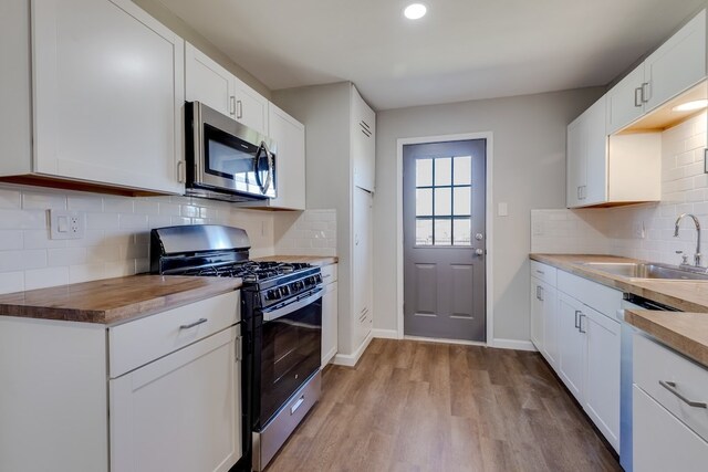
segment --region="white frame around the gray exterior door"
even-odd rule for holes
[[[493,204],[492,204],[492,162],[493,162],[493,133],[465,133],[457,135],[441,135],[441,136],[424,136],[414,138],[398,138],[396,141],[397,159],[396,159],[396,261],[397,261],[397,283],[396,283],[396,307],[397,307],[397,335],[398,339],[403,339],[403,147],[405,145],[426,144],[426,143],[445,143],[445,141],[458,141],[470,139],[486,139],[487,140],[487,156],[486,156],[486,204],[485,204],[485,224],[486,224],[486,238],[487,238],[487,255],[485,260],[485,277],[486,277],[486,323],[487,323],[487,346],[493,346],[494,342],[494,313],[493,313],[493,254],[492,251],[492,220],[493,220]]]

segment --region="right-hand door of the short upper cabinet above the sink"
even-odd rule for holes
[[[644,61],[645,112],[650,112],[706,76],[706,11]]]

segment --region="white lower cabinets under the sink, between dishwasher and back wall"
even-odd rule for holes
[[[616,290],[532,261],[531,340],[617,451],[621,302]]]

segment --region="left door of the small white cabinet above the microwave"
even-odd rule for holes
[[[185,98],[236,116],[233,74],[189,43],[185,44]]]

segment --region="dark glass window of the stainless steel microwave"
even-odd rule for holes
[[[257,146],[207,124],[204,126],[204,133],[206,172],[246,185],[257,185]]]

